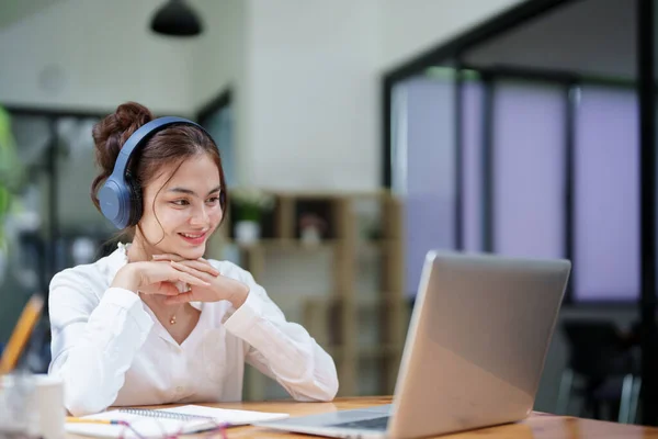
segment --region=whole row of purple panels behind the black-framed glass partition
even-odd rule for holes
[[[481,251],[483,88],[466,81],[463,92],[464,248]],[[404,176],[398,189],[406,194],[407,291],[415,293],[426,252],[455,245],[454,88],[449,79],[419,78],[398,86],[395,97],[394,121],[404,130],[396,132],[394,140],[398,146],[394,180]],[[564,112],[561,87],[496,85],[494,243],[498,254],[565,256]],[[639,294],[637,126],[634,92],[581,89],[575,120],[576,301],[632,301]]]

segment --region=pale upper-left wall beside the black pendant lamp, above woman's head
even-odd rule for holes
[[[0,102],[105,111],[135,100],[189,112],[194,42],[150,33],[161,3],[58,1],[0,29]]]

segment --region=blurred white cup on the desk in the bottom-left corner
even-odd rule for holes
[[[15,427],[25,429],[27,435],[64,439],[66,409],[61,380],[46,374],[4,375],[0,393],[0,406],[9,405],[0,410],[14,412],[13,419],[2,419],[9,424],[0,426],[0,430],[11,430],[14,421]]]

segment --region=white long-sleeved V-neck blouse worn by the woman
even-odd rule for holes
[[[236,311],[227,301],[192,303],[198,323],[179,345],[131,291],[110,288],[127,263],[126,246],[50,282],[49,373],[64,380],[75,416],[111,405],[240,401],[245,361],[276,380],[297,401],[330,401],[336,365],[300,325],[286,322],[251,274],[211,260],[222,275],[247,284]]]

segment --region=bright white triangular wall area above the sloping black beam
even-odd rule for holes
[[[382,63],[392,68],[524,0],[381,0]]]

